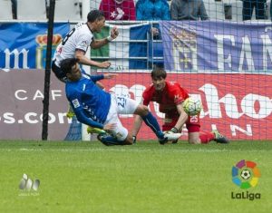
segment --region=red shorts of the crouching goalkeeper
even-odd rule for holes
[[[165,119],[163,125],[162,125],[162,131],[170,131],[172,129],[179,118],[167,118]],[[199,115],[195,116],[189,116],[188,120],[186,121],[186,128],[188,132],[198,132],[200,131],[200,118]]]

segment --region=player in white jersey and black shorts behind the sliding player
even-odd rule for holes
[[[53,55],[52,70],[56,77],[62,81],[66,81],[66,76],[60,68],[60,64],[64,59],[77,58],[79,63],[84,65],[92,65],[99,68],[108,68],[109,62],[95,62],[86,57],[85,53],[88,47],[93,49],[102,47],[115,39],[119,32],[116,27],[112,28],[111,35],[106,38],[95,40],[93,33],[99,33],[105,24],[105,17],[100,10],[92,10],[87,16],[86,23],[76,24],[75,27],[63,38],[63,42],[59,44]]]

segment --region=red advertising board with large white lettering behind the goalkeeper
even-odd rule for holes
[[[139,76],[141,75],[141,76]],[[182,76],[182,77],[181,77]],[[131,79],[139,79],[135,82]],[[107,88],[118,95],[126,95],[136,102],[141,102],[142,92],[151,85],[150,73],[119,73],[120,84],[112,79],[107,81]],[[272,138],[272,81],[270,75],[232,73],[168,73],[167,81],[180,82],[189,91],[190,97],[202,103],[200,112],[202,130],[220,130],[230,140],[269,140]],[[252,83],[252,82],[264,82]],[[164,114],[159,111],[159,104],[151,102],[150,110],[163,121]],[[131,115],[121,116],[122,120],[132,123]],[[160,122],[160,123],[161,123]],[[142,127],[143,131],[148,131]],[[182,131],[182,139],[187,139],[187,130]],[[141,139],[150,139],[142,135]]]

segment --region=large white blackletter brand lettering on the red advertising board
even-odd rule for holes
[[[131,87],[115,84],[110,88],[110,91],[134,98],[137,102],[140,102],[141,94],[145,89],[146,87],[141,84],[134,84]],[[237,93],[227,92],[219,97],[219,88],[211,83],[201,85],[199,91],[204,94],[204,99],[198,93],[190,93],[190,96],[201,100],[202,103],[206,102],[206,109],[201,112],[201,118],[206,116],[210,119],[228,117],[238,120],[243,116],[248,116],[252,119],[265,119],[272,113],[272,102],[268,96],[249,92],[238,100]],[[224,108],[221,106],[224,106]]]

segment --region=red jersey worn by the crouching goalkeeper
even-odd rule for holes
[[[165,82],[162,92],[157,92],[151,85],[142,93],[144,105],[148,106],[150,102],[158,102],[160,104],[159,111],[165,113],[165,118],[170,119],[180,117],[176,105],[188,97],[188,92],[178,82]]]

